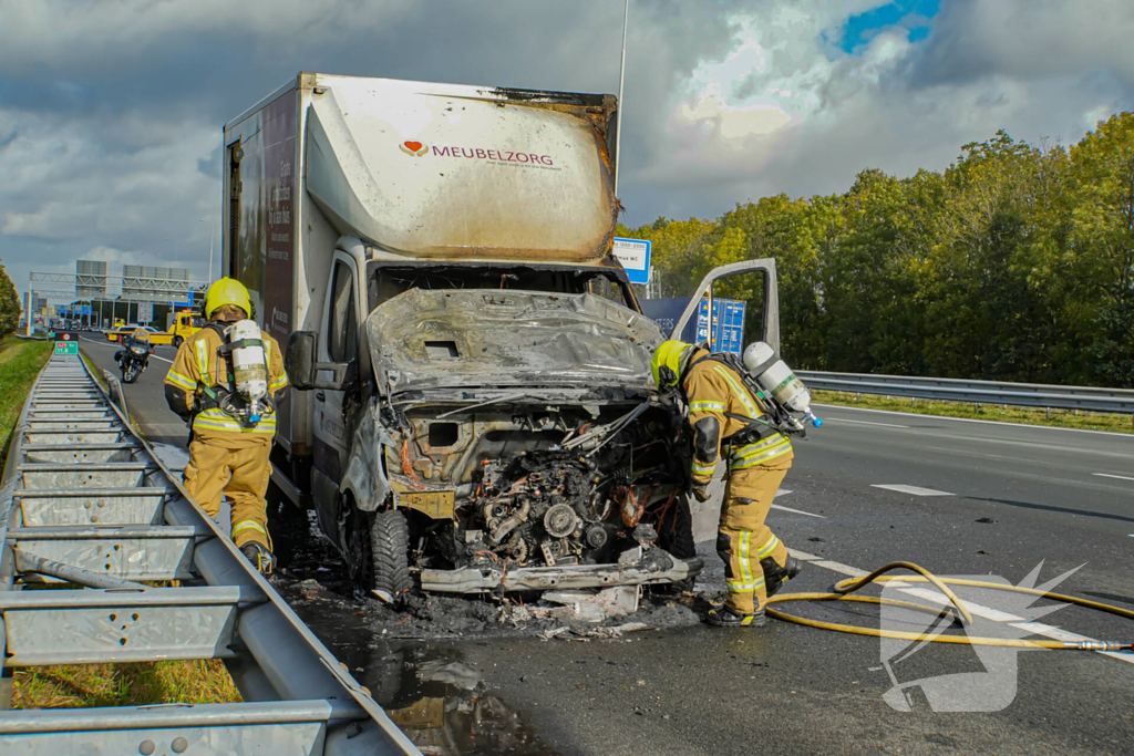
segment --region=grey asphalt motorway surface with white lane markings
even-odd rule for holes
[[[112,348],[83,347],[96,364],[113,367]],[[172,355],[159,348],[156,356]],[[184,442],[184,425],[164,406],[164,367],[151,364],[126,388],[127,397],[151,438]],[[784,484],[789,493],[769,518],[811,562],[786,592],[826,591],[848,574],[894,560],[1014,584],[1042,564],[1041,580],[1078,568],[1060,584],[1063,593],[1134,610],[1134,436],[821,409],[827,424],[796,444]],[[713,517],[706,507],[696,521],[710,566],[699,589],[708,592],[723,587]],[[985,613],[1031,619],[1026,602],[1012,594],[979,601]],[[878,623],[873,608],[786,609]],[[877,638],[779,621],[759,630],[692,626],[590,643],[407,644],[355,628],[350,619],[324,640],[359,679],[399,697],[400,706],[441,702],[445,725],[437,725],[439,719],[418,732],[420,742],[449,744],[431,753],[1134,753],[1129,654],[988,656],[930,645],[899,662]],[[1134,637],[1134,622],[1075,606],[1040,621],[1091,638]],[[420,671],[426,663],[460,673],[431,673],[426,685]],[[391,665],[404,673],[391,680]],[[950,700],[995,711],[933,711],[929,687],[916,686],[984,672],[991,677],[954,678],[958,695]],[[981,688],[982,680],[991,680],[1000,698]],[[912,711],[883,699],[895,681],[915,683],[907,690]]]

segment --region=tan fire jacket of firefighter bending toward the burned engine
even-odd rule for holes
[[[738,470],[758,465],[780,465],[794,457],[792,441],[778,431],[756,439],[751,425],[736,417],[759,419],[764,405],[744,387],[741,376],[728,365],[708,357],[709,351],[697,349],[689,358],[683,388],[689,407],[693,427],[693,482],[705,485],[720,459],[721,443],[729,444],[728,469]],[[697,362],[701,360],[701,362]],[[752,440],[743,444],[730,443],[736,434],[748,431]]]

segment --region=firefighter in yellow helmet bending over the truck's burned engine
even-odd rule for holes
[[[653,380],[661,390],[678,389],[693,430],[691,477],[697,501],[708,486],[723,445],[728,482],[720,508],[717,553],[725,561],[728,600],[710,610],[718,627],[760,627],[768,596],[799,574],[802,563],[764,524],[776,491],[792,467],[792,441],[756,423],[765,414],[735,369],[708,349],[666,341],[654,351]]]

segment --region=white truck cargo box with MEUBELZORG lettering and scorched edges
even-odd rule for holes
[[[617,265],[615,111],[612,95],[302,73],[225,127],[222,270],[285,346],[319,330],[344,239],[366,258]],[[282,402],[289,452],[311,453],[312,411]]]

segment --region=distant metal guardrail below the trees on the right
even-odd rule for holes
[[[848,391],[914,399],[938,399],[980,405],[1084,409],[1097,413],[1134,414],[1134,390],[966,381],[963,379],[872,375],[870,373],[823,373],[796,371],[812,389]]]

